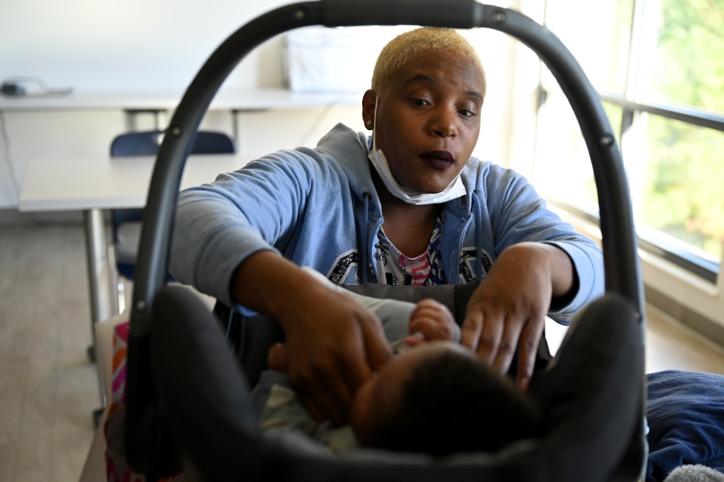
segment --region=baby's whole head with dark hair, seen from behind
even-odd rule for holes
[[[363,447],[434,456],[493,452],[540,426],[526,394],[452,342],[391,360],[355,395],[351,423]]]

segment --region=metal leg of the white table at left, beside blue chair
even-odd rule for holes
[[[85,253],[88,266],[88,289],[90,291],[90,334],[93,344],[88,348],[88,354],[93,355],[98,372],[98,393],[101,397],[101,407],[106,406],[106,391],[104,388],[103,367],[101,357],[98,356],[96,342],[96,323],[104,321],[111,316],[111,287],[109,286],[109,264],[106,251],[106,226],[103,211],[89,209],[83,211],[83,226],[85,228]]]

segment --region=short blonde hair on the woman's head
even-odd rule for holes
[[[387,43],[377,57],[372,72],[372,90],[381,94],[387,88],[397,69],[405,67],[414,58],[424,54],[437,53],[462,57],[475,64],[483,75],[483,96],[487,82],[485,69],[475,48],[452,28],[421,27],[402,33]]]

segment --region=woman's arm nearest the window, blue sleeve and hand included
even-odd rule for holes
[[[534,368],[545,316],[567,323],[603,292],[602,252],[550,211],[515,172],[494,166],[485,177],[495,259],[473,293],[463,344],[501,372],[518,350],[518,384]]]

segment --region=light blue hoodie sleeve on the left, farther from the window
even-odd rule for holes
[[[292,236],[321,156],[279,151],[211,184],[182,191],[174,219],[169,269],[180,282],[233,306],[232,274],[260,250],[279,252]]]

